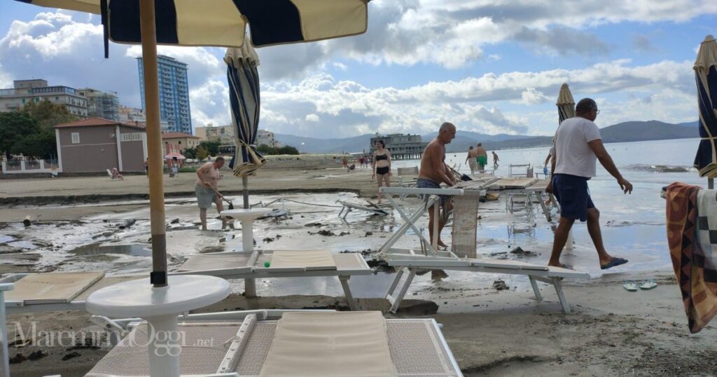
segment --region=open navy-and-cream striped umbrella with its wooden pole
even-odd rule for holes
[[[142,45],[152,228],[150,276],[155,287],[166,286],[167,281],[156,45],[242,47],[247,25],[256,47],[309,42],[362,34],[368,19],[366,0],[17,1],[101,14],[105,54],[107,39]]]

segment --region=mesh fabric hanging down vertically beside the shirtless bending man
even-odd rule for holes
[[[477,190],[466,191],[464,195],[453,197],[453,231],[451,248],[457,256],[475,258],[475,231],[478,226]]]

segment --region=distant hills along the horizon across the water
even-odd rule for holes
[[[697,121],[680,124],[661,121],[628,121],[604,127],[600,129],[600,134],[605,143],[689,139],[699,137],[697,124]],[[435,136],[436,133],[433,132],[421,137],[423,141],[429,141]],[[333,154],[369,152],[371,137],[374,135],[364,134],[341,139],[318,139],[289,134],[275,134],[274,137],[282,145],[295,146],[301,153]],[[462,152],[468,149],[468,146],[478,142],[483,143],[485,149],[488,150],[549,146],[551,139],[552,136],[489,135],[472,131],[457,131],[455,139],[447,146],[447,152]]]

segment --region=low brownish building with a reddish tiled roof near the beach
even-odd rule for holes
[[[58,172],[144,172],[144,126],[87,118],[54,126]]]

